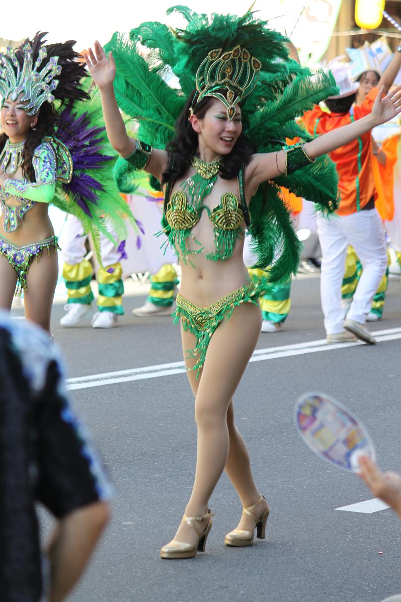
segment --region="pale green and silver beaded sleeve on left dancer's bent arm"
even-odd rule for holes
[[[4,182],[5,192],[10,196],[34,200],[38,203],[52,202],[56,189],[57,164],[48,142],[43,142],[35,148],[32,165],[36,182],[10,178]]]

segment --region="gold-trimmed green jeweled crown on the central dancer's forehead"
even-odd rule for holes
[[[213,96],[227,107],[231,121],[236,105],[256,87],[261,68],[262,63],[246,48],[236,46],[228,52],[222,48],[211,50],[197,70],[195,105],[206,96]]]

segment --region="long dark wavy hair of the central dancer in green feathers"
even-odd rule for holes
[[[176,138],[171,140],[166,146],[168,163],[167,169],[163,173],[162,184],[175,182],[182,176],[188,170],[188,167],[191,165],[191,158],[197,152],[198,134],[194,131],[191,122],[188,120],[189,109],[192,107],[195,94],[197,94],[196,90],[189,96],[182,113],[176,121]],[[194,113],[198,119],[203,119],[213,101],[214,98],[206,96],[206,98],[197,103]],[[245,134],[241,132],[234,144],[233,150],[224,157],[224,163],[219,172],[221,177],[225,180],[236,178],[241,167],[249,163],[252,154],[251,143]]]

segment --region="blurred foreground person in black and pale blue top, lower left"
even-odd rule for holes
[[[57,348],[44,330],[5,312],[0,382],[1,600],[60,602],[108,522],[111,488],[70,409]],[[38,501],[58,521],[43,557]]]

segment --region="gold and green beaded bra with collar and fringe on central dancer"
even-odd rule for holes
[[[203,209],[206,209],[209,219],[214,225],[216,247],[213,253],[206,255],[206,258],[213,261],[224,261],[233,254],[237,238],[244,236],[242,206],[236,194],[231,192],[222,194],[220,204],[211,211],[209,207],[203,205],[204,197],[210,194],[217,180],[223,163],[222,157],[212,163],[206,163],[194,156],[191,163],[196,173],[182,182],[182,190],[174,192],[165,205],[165,220],[168,226],[165,228],[165,234],[168,235],[168,242],[177,250],[183,261],[186,261],[188,255],[201,253],[203,247],[198,241],[195,242],[201,248],[197,250],[188,249],[186,241],[191,235],[192,228],[199,222]],[[188,196],[190,202],[188,202]]]

